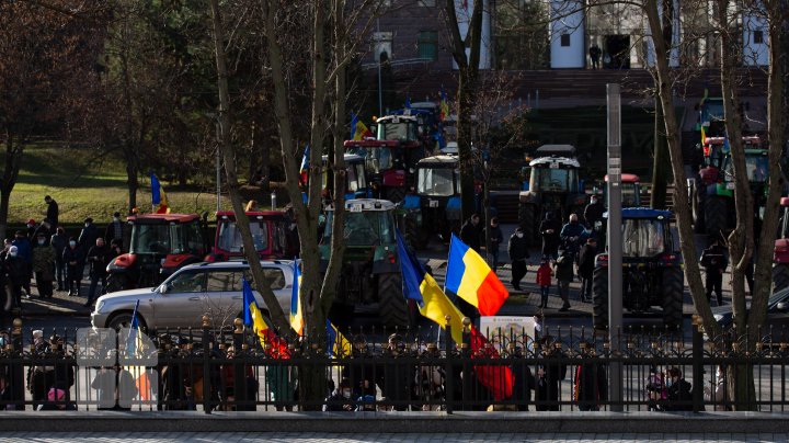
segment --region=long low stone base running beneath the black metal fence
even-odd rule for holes
[[[789,432],[789,414],[769,412],[215,412],[20,411],[0,432],[321,432],[676,434]]]

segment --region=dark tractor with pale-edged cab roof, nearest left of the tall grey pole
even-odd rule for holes
[[[537,148],[537,158],[524,168],[528,185],[521,191],[518,223],[528,245],[539,245],[539,224],[549,211],[567,220],[570,214],[583,215],[586,194],[579,179],[581,164],[575,148],[570,145],[544,145]]]

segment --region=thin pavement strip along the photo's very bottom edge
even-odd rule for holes
[[[670,433],[670,434],[524,434],[524,433],[472,433],[472,434],[325,434],[325,433],[62,433],[46,434],[38,432],[19,432],[3,435],[4,442],[106,442],[106,443],[144,443],[144,442],[786,442],[789,434],[724,434],[724,433]]]

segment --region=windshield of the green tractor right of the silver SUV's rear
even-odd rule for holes
[[[327,216],[323,242],[331,240],[334,213]],[[386,211],[365,211],[361,213],[345,213],[345,227],[343,228],[345,246],[367,246],[395,242],[395,227],[391,217]]]

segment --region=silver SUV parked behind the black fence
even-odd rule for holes
[[[293,261],[262,261],[261,265],[279,306],[289,311]],[[230,326],[243,314],[241,277],[251,280],[249,272],[249,264],[241,261],[186,265],[158,286],[102,295],[91,313],[91,323],[94,328],[128,328],[139,300],[138,319],[149,330],[198,328],[203,316],[213,325]],[[254,296],[267,315],[263,298],[258,292]]]

